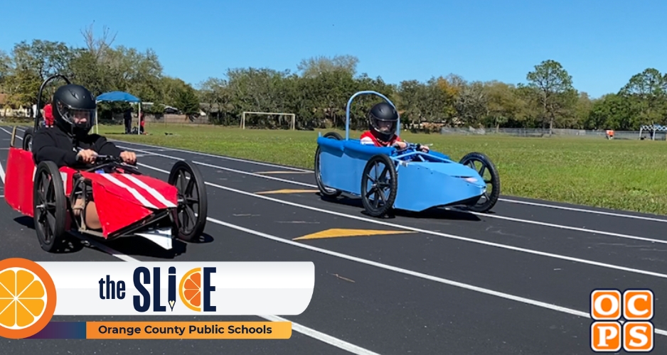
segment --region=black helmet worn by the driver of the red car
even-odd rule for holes
[[[67,84],[53,94],[53,120],[70,133],[87,133],[94,124],[95,97],[81,85]],[[84,122],[77,122],[85,119]]]

